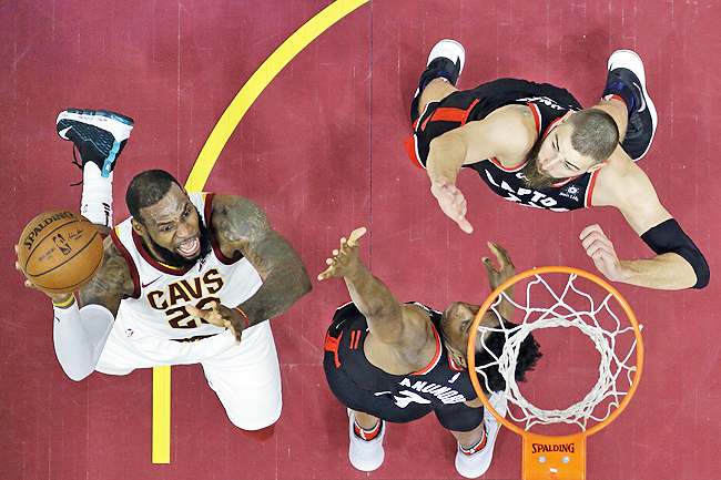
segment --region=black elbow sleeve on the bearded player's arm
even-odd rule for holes
[[[641,235],[641,239],[657,255],[674,253],[687,261],[695,273],[695,285],[691,288],[703,288],[709,285],[709,264],[676,219],[661,222]]]

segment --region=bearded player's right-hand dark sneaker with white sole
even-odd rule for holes
[[[608,59],[608,76],[603,96],[626,85],[633,94],[629,121],[621,147],[636,162],[646,155],[658,124],[656,106],[646,92],[646,72],[641,58],[631,50],[617,50]]]

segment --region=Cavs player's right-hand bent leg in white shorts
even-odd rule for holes
[[[207,384],[236,427],[260,431],[273,426],[281,417],[281,368],[268,321],[243,331],[240,346],[201,364]],[[267,437],[267,432],[272,433],[272,429],[262,436]]]

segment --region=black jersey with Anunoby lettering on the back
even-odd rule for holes
[[[433,361],[419,371],[390,375],[367,360],[363,346],[368,335],[368,324],[353,303],[336,312],[326,335],[326,353],[333,353],[335,367],[342,369],[354,384],[375,397],[392,399],[400,409],[414,404],[439,407],[473,400],[477,395],[468,371],[453,361],[440,341],[440,313],[420,306],[428,312],[434,324],[436,355]]]

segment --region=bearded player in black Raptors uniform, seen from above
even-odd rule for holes
[[[586,253],[610,280],[660,289],[708,285],[703,254],[634,163],[648,152],[657,124],[634,52],[610,57],[602,101],[586,110],[563,89],[525,80],[459,91],[464,61],[456,41],[434,47],[412,104],[414,136],[406,142],[412,160],[427,170],[440,208],[464,232],[473,227],[456,178],[470,167],[494,192],[521,205],[621,211],[657,256],[619,259],[599,225],[586,227],[580,234]]]

